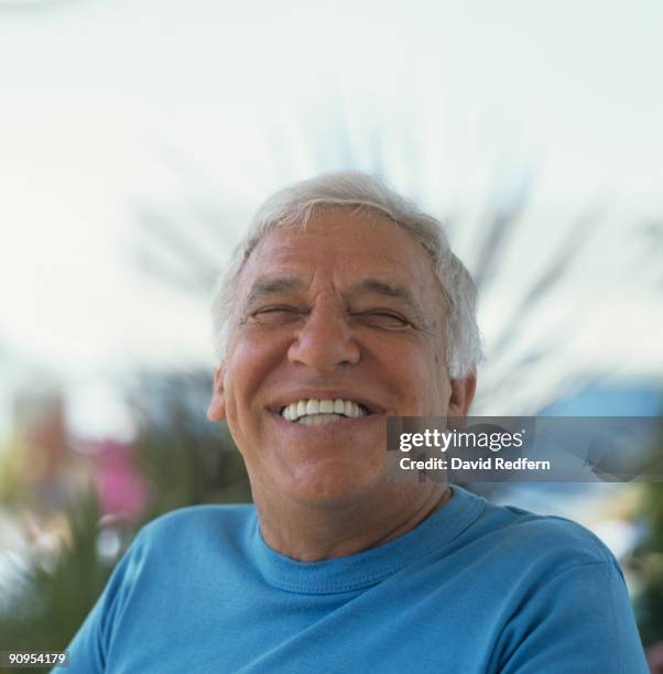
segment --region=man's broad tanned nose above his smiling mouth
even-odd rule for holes
[[[357,365],[361,354],[348,325],[345,306],[329,297],[317,302],[296,331],[287,357],[292,363],[304,365],[318,372]]]

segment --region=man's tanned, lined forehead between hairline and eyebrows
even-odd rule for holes
[[[305,228],[270,231],[247,261],[240,285],[276,275],[296,275],[305,284],[328,276],[341,285],[374,278],[417,294],[438,285],[430,256],[411,233],[385,216],[348,207],[314,210]]]

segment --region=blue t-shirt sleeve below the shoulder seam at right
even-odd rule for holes
[[[649,672],[616,563],[578,564],[544,580],[502,637],[502,674]]]

